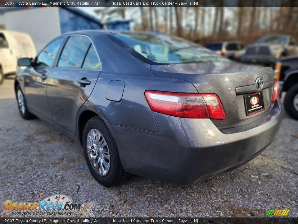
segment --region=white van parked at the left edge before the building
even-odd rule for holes
[[[0,30],[0,84],[6,75],[15,74],[18,58],[35,56],[35,46],[29,34]]]

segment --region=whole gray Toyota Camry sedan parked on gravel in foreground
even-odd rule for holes
[[[260,154],[283,117],[273,70],[168,35],[79,31],[20,58],[16,99],[75,138],[104,186],[130,174],[178,185]]]

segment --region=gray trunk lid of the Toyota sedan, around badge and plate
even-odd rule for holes
[[[271,107],[274,87],[272,68],[224,61],[151,65],[151,70],[158,77],[191,82],[199,93],[217,94],[224,106],[226,119],[212,121],[220,129],[260,119],[268,114]],[[258,77],[264,81],[261,89],[255,84]],[[244,95],[260,91],[263,94],[264,110],[247,116]]]

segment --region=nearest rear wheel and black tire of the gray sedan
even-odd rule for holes
[[[129,178],[129,173],[122,167],[115,140],[100,117],[87,121],[83,147],[88,168],[98,183],[110,187]]]

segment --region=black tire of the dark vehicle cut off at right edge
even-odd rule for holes
[[[284,107],[287,113],[294,119],[298,119],[298,84],[292,86],[284,99]]]

